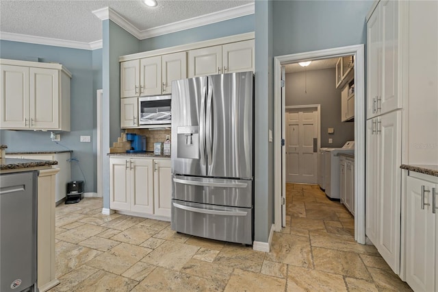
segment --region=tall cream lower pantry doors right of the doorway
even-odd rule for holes
[[[365,233],[395,273],[400,273],[400,110],[367,121]]]

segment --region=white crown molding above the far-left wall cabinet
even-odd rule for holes
[[[44,38],[43,36],[29,36],[28,34],[13,34],[10,32],[0,32],[0,40],[11,40],[13,42],[29,42],[38,45],[55,47],[67,47],[72,49],[99,49],[102,47],[102,40],[96,42],[76,42],[74,40],[61,40],[59,38]]]

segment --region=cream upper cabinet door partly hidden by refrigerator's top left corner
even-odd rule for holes
[[[172,81],[187,77],[185,51],[162,56],[163,94],[172,93]]]

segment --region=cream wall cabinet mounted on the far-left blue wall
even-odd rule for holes
[[[0,129],[70,131],[70,78],[60,64],[0,60]]]

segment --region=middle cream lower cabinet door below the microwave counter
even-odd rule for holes
[[[131,159],[131,211],[153,214],[153,163],[151,159]]]

